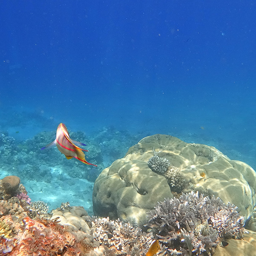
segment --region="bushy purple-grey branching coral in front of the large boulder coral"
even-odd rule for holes
[[[217,243],[242,237],[244,218],[220,198],[182,193],[165,199],[149,214],[149,224],[172,255],[210,255]]]

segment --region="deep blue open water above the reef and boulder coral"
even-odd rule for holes
[[[3,2],[0,131],[36,151],[34,136],[63,122],[97,143],[97,173],[156,133],[255,169],[255,14],[250,0]],[[48,152],[53,175],[63,156]]]

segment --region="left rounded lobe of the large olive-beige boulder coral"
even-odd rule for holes
[[[165,177],[152,172],[141,160],[116,160],[94,183],[93,211],[98,216],[120,218],[142,226],[157,201],[172,198]]]

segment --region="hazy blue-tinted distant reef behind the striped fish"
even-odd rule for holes
[[[61,169],[73,178],[85,178],[94,182],[102,169],[104,162],[111,164],[113,160],[122,157],[129,146],[133,145],[138,136],[128,131],[118,131],[113,127],[104,127],[92,136],[84,132],[70,131],[74,140],[87,144],[84,149],[90,151],[86,158],[90,163],[98,165],[87,166],[74,161],[63,160],[56,148],[41,151],[44,145],[55,139],[54,131],[43,131],[26,141],[17,141],[6,131],[0,131],[0,163],[10,174],[19,176],[24,180],[52,181],[51,169]],[[35,175],[35,173],[37,175]]]

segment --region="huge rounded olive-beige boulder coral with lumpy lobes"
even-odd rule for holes
[[[252,214],[256,173],[250,166],[230,160],[212,146],[185,143],[161,134],[143,138],[129,148],[124,158],[102,171],[93,187],[94,214],[142,227],[157,201],[173,198],[173,184],[170,186],[164,175],[153,172],[148,165],[154,155],[168,160],[189,180],[180,192],[195,190],[218,196],[236,205],[245,220]]]

